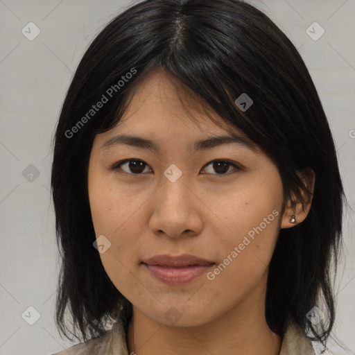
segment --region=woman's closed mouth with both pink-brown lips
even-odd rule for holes
[[[143,261],[142,264],[151,275],[164,284],[182,285],[198,279],[216,263],[190,254],[178,257],[165,254]]]

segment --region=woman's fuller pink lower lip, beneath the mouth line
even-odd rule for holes
[[[164,284],[183,285],[200,277],[211,268],[211,266],[214,266],[214,263],[210,265],[194,265],[183,268],[168,268],[158,265],[147,265],[146,263],[144,263],[144,266],[152,272],[157,279],[164,282]]]

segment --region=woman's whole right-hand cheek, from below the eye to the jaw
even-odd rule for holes
[[[220,266],[215,272],[212,270],[211,278],[251,284],[263,275],[272,257],[279,232],[283,189],[275,171],[268,179],[255,178],[239,187],[234,193],[218,199],[211,196],[207,201],[216,211],[214,234],[218,235],[216,246],[220,257]]]

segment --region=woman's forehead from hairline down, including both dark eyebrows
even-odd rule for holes
[[[156,69],[148,73],[129,97],[119,123],[99,135],[100,150],[131,146],[162,152],[162,146],[186,146],[190,152],[222,144],[239,144],[250,150],[257,146],[173,76]]]

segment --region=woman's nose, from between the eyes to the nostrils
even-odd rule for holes
[[[151,203],[150,232],[171,238],[200,234],[206,207],[184,175],[175,182],[164,177]]]

